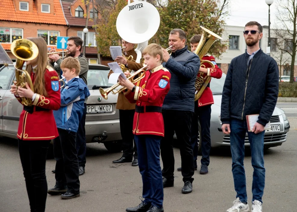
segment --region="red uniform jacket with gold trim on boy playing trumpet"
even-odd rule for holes
[[[161,108],[165,96],[170,89],[171,74],[162,65],[145,71],[145,77],[137,84],[134,92],[124,92],[130,103],[136,103],[133,121],[134,135],[156,135],[164,137],[164,121]],[[146,107],[157,106],[159,112],[146,112]],[[137,112],[143,107],[144,112]]]

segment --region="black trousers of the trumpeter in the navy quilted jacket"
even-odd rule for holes
[[[194,159],[191,146],[191,124],[193,113],[191,111],[164,110],[162,111],[164,119],[164,138],[161,139],[161,157],[163,161],[162,175],[169,180],[174,180],[174,154],[173,154],[173,136],[174,131],[180,142],[180,156],[182,160],[183,181],[194,178]]]

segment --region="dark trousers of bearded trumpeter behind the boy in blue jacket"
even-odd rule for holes
[[[87,104],[83,103],[85,107],[83,109],[83,116],[81,117],[80,123],[78,125],[76,133],[76,150],[78,158],[78,166],[86,166],[86,114],[87,114]]]

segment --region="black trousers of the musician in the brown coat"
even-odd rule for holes
[[[137,148],[134,141],[133,148],[133,119],[135,110],[119,110],[120,111],[120,130],[121,136],[123,139],[122,147],[123,147],[123,157],[138,159]]]

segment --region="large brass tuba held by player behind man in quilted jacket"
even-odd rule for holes
[[[200,42],[196,50],[194,51],[194,53],[198,55],[200,58],[200,67],[205,68],[205,65],[203,65],[202,63],[208,63],[208,64],[211,64],[211,66],[214,68],[214,64],[211,61],[202,60],[202,58],[207,53],[209,48],[214,44],[214,42],[217,39],[222,40],[222,38],[204,27],[200,26],[200,28],[203,30],[203,32],[202,32]],[[195,101],[197,101],[201,97],[204,89],[207,87],[210,80],[211,80],[210,76],[203,77],[202,73],[200,74],[200,76],[197,76],[195,81],[195,89],[196,89]]]

